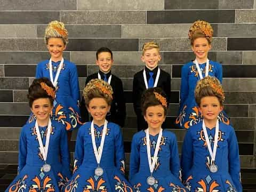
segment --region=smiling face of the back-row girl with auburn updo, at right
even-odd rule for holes
[[[211,45],[205,37],[196,38],[191,48],[194,51],[198,62],[206,62],[208,52],[211,50]]]

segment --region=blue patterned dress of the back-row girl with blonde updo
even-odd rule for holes
[[[57,74],[60,61],[52,61],[53,79]],[[49,60],[38,63],[36,68],[36,78],[47,77],[50,79]],[[72,131],[82,125],[79,111],[79,84],[76,65],[68,60],[64,60],[58,78],[56,97],[53,102],[51,119],[65,125],[67,131]],[[33,114],[30,115],[28,123],[35,120]]]

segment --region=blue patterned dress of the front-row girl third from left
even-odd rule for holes
[[[155,136],[149,135],[151,157],[154,156],[157,138],[158,134]],[[148,185],[147,178],[149,176],[150,169],[147,156],[146,133],[142,130],[134,134],[132,139],[129,179],[134,191],[187,191],[180,181],[180,161],[177,140],[175,135],[170,131],[163,130],[157,162],[153,171],[153,177],[157,180],[155,185]]]

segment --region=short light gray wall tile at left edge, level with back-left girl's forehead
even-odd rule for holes
[[[35,51],[37,39],[0,38],[0,51]]]

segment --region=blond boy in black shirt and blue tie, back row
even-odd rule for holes
[[[158,61],[161,60],[158,44],[155,42],[145,43],[142,48],[141,60],[145,62],[146,66],[145,69],[134,75],[132,87],[133,108],[137,115],[138,131],[148,127],[141,113],[142,93],[150,87],[161,87],[167,96],[168,104],[171,94],[171,76],[158,67]]]

